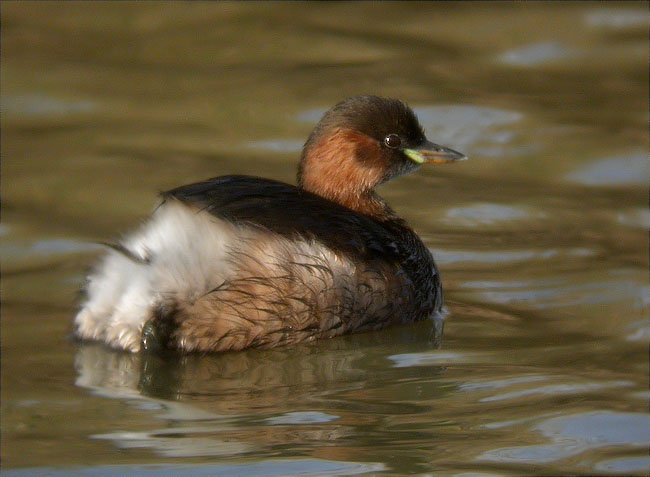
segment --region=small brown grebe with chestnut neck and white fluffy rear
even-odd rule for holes
[[[297,185],[226,175],[161,194],[92,268],[74,334],[130,352],[312,342],[439,315],[430,250],[375,188],[465,155],[427,139],[404,102],[329,109]]]

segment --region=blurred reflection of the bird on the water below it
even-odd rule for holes
[[[386,358],[387,351],[400,353],[421,345],[435,348],[441,327],[441,323],[419,323],[391,333],[215,355],[134,354],[84,343],[75,360],[76,384],[96,395],[154,411],[161,419],[160,428],[141,431],[138,426],[134,432],[127,427],[92,436],[121,449],[223,457],[264,455],[291,444],[308,447],[318,458],[358,460],[360,456],[351,455],[349,446],[335,444],[353,437],[359,425],[367,428],[373,421],[382,425],[381,416],[418,412],[410,409],[416,405],[384,402],[367,394],[385,385],[385,380],[409,372],[387,367],[385,359],[377,358]],[[427,368],[427,372],[441,369]],[[360,415],[364,422],[358,420]]]

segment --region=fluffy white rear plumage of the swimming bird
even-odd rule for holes
[[[231,272],[225,259],[237,240],[231,224],[165,203],[122,242],[141,263],[111,250],[89,277],[88,299],[75,318],[77,333],[138,351],[154,307],[170,295],[191,299],[218,285]]]

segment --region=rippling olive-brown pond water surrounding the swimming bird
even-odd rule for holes
[[[2,5],[7,475],[650,472],[647,4]],[[381,189],[449,315],[160,359],[70,339],[158,191],[293,181],[340,99],[470,160]]]

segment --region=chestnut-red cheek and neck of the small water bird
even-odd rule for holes
[[[350,129],[310,138],[298,168],[298,186],[376,220],[397,219],[377,195],[388,164],[381,145]]]

